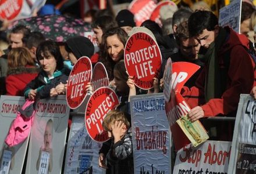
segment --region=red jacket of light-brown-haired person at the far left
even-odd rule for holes
[[[10,68],[7,72],[6,95],[23,96],[24,88],[32,81],[39,69],[33,66]]]

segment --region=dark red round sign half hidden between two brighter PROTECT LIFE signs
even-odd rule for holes
[[[93,91],[108,86],[108,73],[106,73],[106,68],[104,64],[98,62],[95,64],[93,68],[93,77],[91,78],[91,86],[93,87]]]

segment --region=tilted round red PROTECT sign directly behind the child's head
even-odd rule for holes
[[[108,132],[102,127],[102,121],[106,114],[118,105],[118,96],[113,89],[101,87],[94,91],[87,103],[85,114],[86,129],[91,139],[96,142],[109,139]]]

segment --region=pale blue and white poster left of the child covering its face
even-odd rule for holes
[[[99,168],[99,149],[102,144],[91,139],[84,125],[84,117],[73,116],[72,126],[67,143],[65,171],[73,174],[104,174],[105,169]]]

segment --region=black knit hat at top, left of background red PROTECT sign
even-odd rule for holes
[[[119,27],[125,27],[125,26],[130,26],[130,27],[135,27],[135,22],[134,22],[134,15],[131,13],[129,10],[120,10],[118,15],[116,16],[116,21],[118,22]]]

